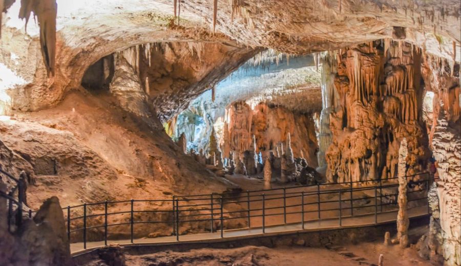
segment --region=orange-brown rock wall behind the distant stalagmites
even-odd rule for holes
[[[295,157],[307,160],[311,167],[317,167],[317,138],[311,114],[299,114],[282,106],[260,103],[252,109],[247,103],[238,101],[228,107],[223,129],[223,154],[230,151],[243,156],[252,144],[255,135],[256,151],[263,158],[274,151],[280,143],[285,145],[291,135],[291,148]],[[279,147],[280,149],[280,147]],[[280,151],[282,152],[282,151]]]

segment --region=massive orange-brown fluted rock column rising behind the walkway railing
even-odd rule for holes
[[[340,103],[329,116],[330,182],[395,177],[403,138],[407,174],[426,169],[430,151],[422,120],[421,56],[408,43],[379,40],[340,50],[331,60],[337,64],[334,87]]]

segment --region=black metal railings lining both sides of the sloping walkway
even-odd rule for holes
[[[433,181],[432,176],[424,172],[408,175],[406,178],[409,181],[408,203],[424,201],[424,204],[427,204],[427,193],[423,192],[429,189]],[[70,242],[82,242],[83,249],[87,249],[87,242],[92,241],[103,241],[104,245],[107,245],[109,229],[114,227],[124,228],[117,230],[117,237],[113,237],[113,240],[123,239],[124,236],[124,239],[128,240],[129,235],[131,243],[135,237],[145,236],[136,235],[135,226],[152,224],[162,225],[163,231],[169,228],[167,230],[170,234],[166,236],[175,236],[176,241],[180,240],[181,235],[187,234],[180,232],[180,226],[184,224],[195,224],[194,233],[219,231],[220,237],[224,237],[224,228],[260,228],[265,233],[268,226],[286,225],[287,216],[291,218],[290,224],[301,223],[302,229],[308,221],[328,219],[337,219],[342,227],[343,220],[348,217],[374,214],[374,223],[378,223],[378,214],[398,209],[398,191],[395,188],[399,184],[392,182],[396,179],[317,184],[240,193],[173,195],[168,200],[83,203],[68,206],[63,208],[63,211],[67,219]],[[383,203],[384,198],[387,203]],[[161,208],[141,209],[137,206],[139,204],[142,204],[142,207],[156,204]],[[111,209],[114,211],[110,212]],[[280,216],[281,221],[274,219],[275,216]],[[114,222],[110,223],[110,219]],[[232,220],[238,220],[237,225],[231,224]],[[270,224],[270,221],[273,223]],[[240,226],[242,224],[244,226]],[[152,228],[146,230],[150,231]]]

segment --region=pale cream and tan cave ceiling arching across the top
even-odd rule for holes
[[[66,4],[61,1],[57,1],[58,6]],[[19,4],[16,1],[13,6]],[[98,58],[121,48],[160,40],[225,42],[229,40],[225,34],[251,47],[262,46],[290,53],[308,53],[395,37],[425,46],[432,54],[449,59],[453,56],[459,58],[459,53],[455,55],[452,49],[452,40],[459,47],[461,39],[461,26],[457,21],[459,2],[456,0],[443,3],[329,0],[321,4],[317,1],[265,0],[261,3],[235,5],[225,2],[219,5],[216,21],[218,33],[214,35],[205,29],[213,21],[212,7],[212,3],[204,4],[197,0],[182,3],[183,19],[180,26],[172,23],[173,5],[166,0],[146,3],[142,0],[123,3],[95,3],[87,0],[62,11],[58,8],[56,76],[54,79],[47,79],[38,53],[30,58],[33,62],[30,65],[29,62],[9,64],[13,71],[24,66],[30,70],[25,84],[11,88],[12,94],[22,99],[13,104],[15,108],[32,110],[56,103],[66,90],[78,86],[85,70]],[[38,48],[37,30],[32,33],[31,29],[31,37],[24,38],[24,33],[14,36],[14,27],[22,28],[23,25],[18,23],[17,13],[13,13],[13,10],[17,8],[10,8],[11,12],[6,15],[11,23],[3,28],[2,38],[13,38],[15,41],[10,41],[2,49],[13,52]],[[284,19],[279,19],[282,17]],[[111,22],[108,23],[108,20]],[[204,26],[203,21],[207,21],[208,25]],[[404,34],[396,34],[394,27],[405,28]],[[448,41],[440,41],[444,39]],[[50,87],[52,92],[49,91]],[[23,91],[27,91],[31,99],[21,96]],[[176,101],[181,100],[178,98]]]

